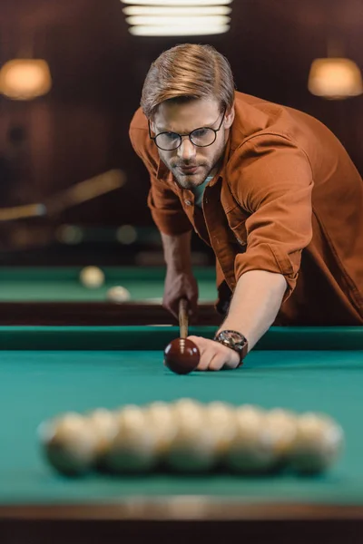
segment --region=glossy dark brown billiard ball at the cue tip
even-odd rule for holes
[[[199,364],[201,354],[188,338],[176,338],[165,347],[164,364],[175,374],[189,374]]]

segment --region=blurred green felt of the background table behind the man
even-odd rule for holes
[[[106,300],[107,290],[114,286],[128,289],[132,300],[160,301],[163,294],[165,268],[104,267],[102,287],[83,287],[79,280],[82,267],[10,267],[0,270],[0,302],[8,301],[90,301]],[[217,298],[213,267],[196,267],[200,300]]]

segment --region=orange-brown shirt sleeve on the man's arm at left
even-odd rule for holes
[[[152,152],[151,142],[145,137],[143,129],[130,127],[129,135],[133,150],[139,155],[150,174],[151,188],[148,206],[157,228],[170,236],[178,236],[191,230],[191,222],[182,209],[179,196],[172,190],[166,180],[159,179],[157,172],[159,161]]]

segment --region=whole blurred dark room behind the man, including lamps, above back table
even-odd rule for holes
[[[175,44],[214,45],[239,91],[323,121],[362,174],[362,28],[362,0],[2,0],[0,265],[162,264],[128,128]],[[198,239],[193,260],[213,262]]]

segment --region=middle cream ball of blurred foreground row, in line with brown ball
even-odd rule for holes
[[[175,435],[166,464],[178,472],[210,471],[216,464],[215,440],[205,406],[191,399],[172,403]]]

